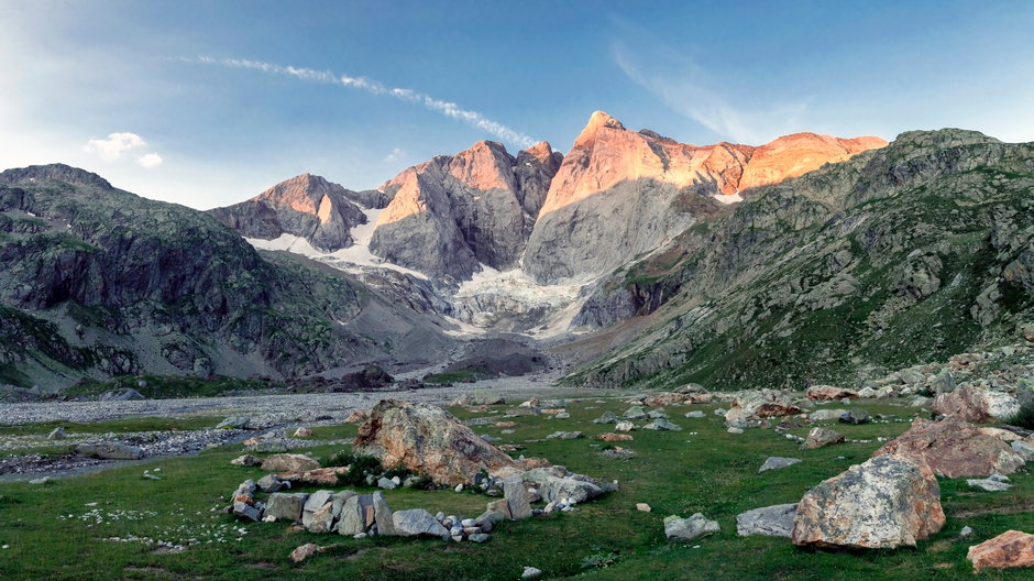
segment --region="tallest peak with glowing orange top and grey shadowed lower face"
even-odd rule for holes
[[[692,226],[715,199],[886,144],[796,133],[760,147],[696,146],[596,111],[550,184],[524,267],[546,284],[609,272]]]

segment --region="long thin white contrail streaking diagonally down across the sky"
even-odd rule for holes
[[[351,89],[364,90],[372,95],[385,95],[394,97],[400,101],[424,105],[427,109],[441,113],[446,117],[462,121],[473,128],[480,129],[486,133],[495,135],[503,141],[517,144],[524,149],[535,145],[536,141],[515,129],[510,129],[503,123],[493,121],[477,111],[463,109],[454,102],[436,99],[425,92],[413,89],[403,89],[395,87],[385,87],[382,83],[365,77],[350,77],[348,75],[336,75],[329,70],[314,70],[311,68],[299,68],[293,66],[282,66],[262,61],[248,61],[240,58],[212,58],[200,56],[198,58],[184,58],[188,63],[201,63],[206,65],[217,65],[231,68],[250,68],[261,70],[273,75],[287,75],[301,80],[312,83],[327,83],[340,85]]]

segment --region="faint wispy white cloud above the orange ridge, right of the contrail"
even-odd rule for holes
[[[758,144],[794,131],[807,109],[806,99],[761,110],[738,107],[714,75],[692,58],[656,44],[637,43],[634,53],[625,42],[615,41],[612,54],[629,79],[673,111],[733,141]]]

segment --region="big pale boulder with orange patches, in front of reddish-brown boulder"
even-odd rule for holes
[[[931,470],[886,454],[823,481],[798,504],[791,539],[818,548],[884,549],[941,530],[941,487]]]

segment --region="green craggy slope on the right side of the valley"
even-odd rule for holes
[[[762,188],[604,279],[579,320],[649,326],[572,381],[858,383],[1034,320],[1034,145],[910,132]]]

